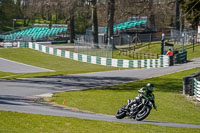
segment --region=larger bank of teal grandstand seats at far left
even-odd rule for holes
[[[17,40],[28,36],[33,40],[40,40],[42,38],[64,33],[66,31],[66,27],[52,27],[50,29],[48,27],[31,27],[24,30],[1,35],[0,38],[4,40]]]

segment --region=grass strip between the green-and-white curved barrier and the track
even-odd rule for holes
[[[62,57],[57,57],[54,55],[44,54],[42,52],[38,52],[28,48],[0,49],[0,57],[56,71],[24,74],[20,77],[68,75],[77,73],[117,70],[117,68],[114,67],[83,63]]]

